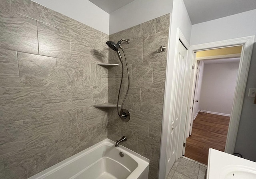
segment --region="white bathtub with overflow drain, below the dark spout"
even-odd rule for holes
[[[148,179],[148,169],[149,159],[106,139],[29,179]]]

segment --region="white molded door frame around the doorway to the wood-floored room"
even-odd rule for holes
[[[229,40],[224,40],[224,41],[216,41],[212,43],[204,43],[200,45],[192,45],[190,46],[190,49],[188,51],[189,58],[195,59],[194,55],[196,55],[196,51],[204,51],[204,50],[209,50],[209,49],[218,49],[218,48],[223,48],[223,47],[231,47],[231,46],[238,46],[242,45],[242,52],[241,52],[241,57],[240,57],[240,63],[239,63],[239,69],[238,69],[238,77],[236,81],[236,89],[234,93],[234,100],[233,100],[233,106],[232,106],[232,112],[231,112],[231,117],[230,117],[230,123],[228,127],[228,135],[226,139],[226,146],[225,146],[225,152],[233,154],[234,153],[234,148],[236,144],[236,136],[238,132],[238,126],[240,122],[240,115],[242,112],[242,105],[243,105],[243,100],[244,100],[244,93],[245,93],[245,87],[247,83],[247,77],[248,77],[248,71],[250,67],[250,61],[251,61],[251,56],[252,56],[252,47],[254,43],[254,35],[253,36],[248,36],[248,37],[241,37],[241,38],[236,38],[236,39],[229,39]],[[198,65],[198,59],[195,59],[192,63],[195,64],[195,69],[197,68]],[[195,74],[191,74],[191,78],[193,80],[193,83],[190,83],[190,95],[188,98],[188,104],[190,104],[193,95],[191,93],[191,90],[195,86]],[[188,105],[187,108],[190,106]],[[188,128],[188,115],[189,112],[187,113],[186,116],[186,128]],[[187,130],[185,131],[185,133]],[[184,143],[186,143],[186,136],[183,139]]]

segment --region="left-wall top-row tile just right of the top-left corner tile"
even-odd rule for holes
[[[31,0],[11,0],[12,12],[53,26],[53,11]]]

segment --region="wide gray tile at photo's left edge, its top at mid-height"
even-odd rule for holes
[[[31,88],[0,88],[2,122],[12,122],[42,115],[41,90]]]

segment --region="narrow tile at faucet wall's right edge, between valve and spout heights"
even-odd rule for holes
[[[150,114],[148,136],[160,142],[161,130],[162,130],[162,116]]]

